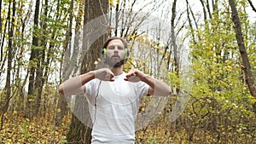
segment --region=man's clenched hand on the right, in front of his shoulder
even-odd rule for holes
[[[132,68],[130,72],[126,74],[125,81],[130,82],[139,82],[145,78],[145,74],[143,72],[140,72],[139,70]]]

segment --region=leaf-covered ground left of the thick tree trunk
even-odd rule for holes
[[[29,120],[18,112],[4,114],[0,143],[4,144],[41,144],[65,143],[71,118],[63,118],[61,126],[55,126],[54,116],[45,114]]]

